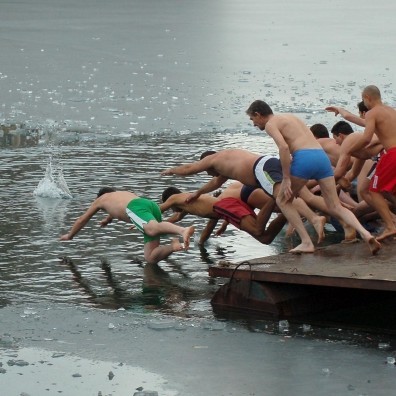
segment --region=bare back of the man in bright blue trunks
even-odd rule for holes
[[[321,148],[308,126],[292,114],[274,115],[268,121],[267,126],[279,130],[291,154],[296,150]]]

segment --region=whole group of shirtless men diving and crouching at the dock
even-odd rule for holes
[[[393,172],[396,164],[396,111],[382,103],[380,91],[373,85],[364,88],[362,105],[366,109],[364,118],[339,107],[326,109],[364,126],[363,133],[344,133],[347,123],[340,121],[345,124],[333,127],[335,139],[330,139],[315,136],[315,128],[311,127],[311,130],[298,117],[274,114],[267,103],[256,100],[246,113],[255,127],[265,130],[274,140],[279,156],[260,156],[241,149],[207,151],[199,161],[167,169],[162,175],[187,176],[207,172],[212,178],[193,193],[167,188],[161,205],[131,192],[104,188],[91,207],[76,220],[70,232],[61,236],[61,240],[72,239],[102,209],[108,213],[101,222],[102,226],[118,219],[133,223],[144,234],[144,256],[149,263],[157,263],[172,252],[189,248],[194,227],[175,224],[186,214],[209,219],[200,243],[209,238],[219,220],[225,223],[217,233],[231,223],[265,244],[271,243],[288,222],[301,239],[301,243],[290,252],[312,253],[315,245],[302,218],[313,225],[319,243],[324,238],[325,216],[329,215],[343,227],[346,242],[354,241],[357,232],[374,255],[381,248],[379,241],[396,235],[392,212],[396,204],[396,175]],[[376,155],[380,155],[378,163],[370,162]],[[369,170],[366,169],[368,166]],[[337,184],[347,189],[359,174],[364,175],[358,189],[362,199],[361,203],[351,206],[339,195]],[[210,194],[228,180],[233,182],[219,196]],[[320,194],[314,194],[308,188],[312,182],[317,183]],[[169,209],[174,211],[174,215],[163,221],[161,213]],[[354,211],[369,212],[369,209],[384,223],[384,230],[378,237],[363,227],[354,214]],[[278,215],[268,224],[274,211]],[[162,234],[177,237],[168,245],[160,245]],[[179,237],[182,237],[183,244]]]

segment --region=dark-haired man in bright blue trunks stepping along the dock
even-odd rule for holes
[[[253,125],[265,130],[279,148],[283,181],[276,202],[301,238],[301,244],[292,253],[312,253],[315,247],[297,210],[291,204],[309,179],[318,181],[327,211],[359,232],[372,254],[380,243],[359,223],[354,214],[343,207],[337,195],[330,160],[309,128],[291,114],[274,115],[267,103],[256,100],[247,109]]]

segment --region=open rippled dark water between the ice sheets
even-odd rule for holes
[[[83,134],[79,138],[84,140]],[[241,147],[242,140],[243,147],[265,146],[261,134],[199,133],[4,149],[4,157],[9,155],[12,161],[1,165],[6,177],[0,188],[12,205],[4,205],[1,212],[6,236],[0,247],[1,298],[10,299],[12,290],[11,301],[25,304],[44,300],[130,309],[157,305],[181,315],[209,314],[208,300],[218,286],[218,280],[208,278],[209,265],[220,259],[277,253],[285,245],[280,240],[261,245],[231,230],[204,249],[193,243],[189,252],[147,267],[139,232],[129,231],[122,222],[101,229],[98,223],[104,213],[98,213],[73,241],[61,243],[58,237],[88,208],[101,186],[132,190],[160,202],[169,185],[193,191],[208,180],[205,175],[161,177],[161,170],[196,159],[207,148]],[[59,181],[56,171],[61,164],[72,198],[48,198]],[[42,180],[40,196],[34,196]],[[205,220],[189,216],[183,221],[191,223],[198,237]]]

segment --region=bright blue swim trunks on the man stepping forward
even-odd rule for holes
[[[301,149],[293,153],[290,174],[304,180],[334,176],[331,162],[323,149]]]

